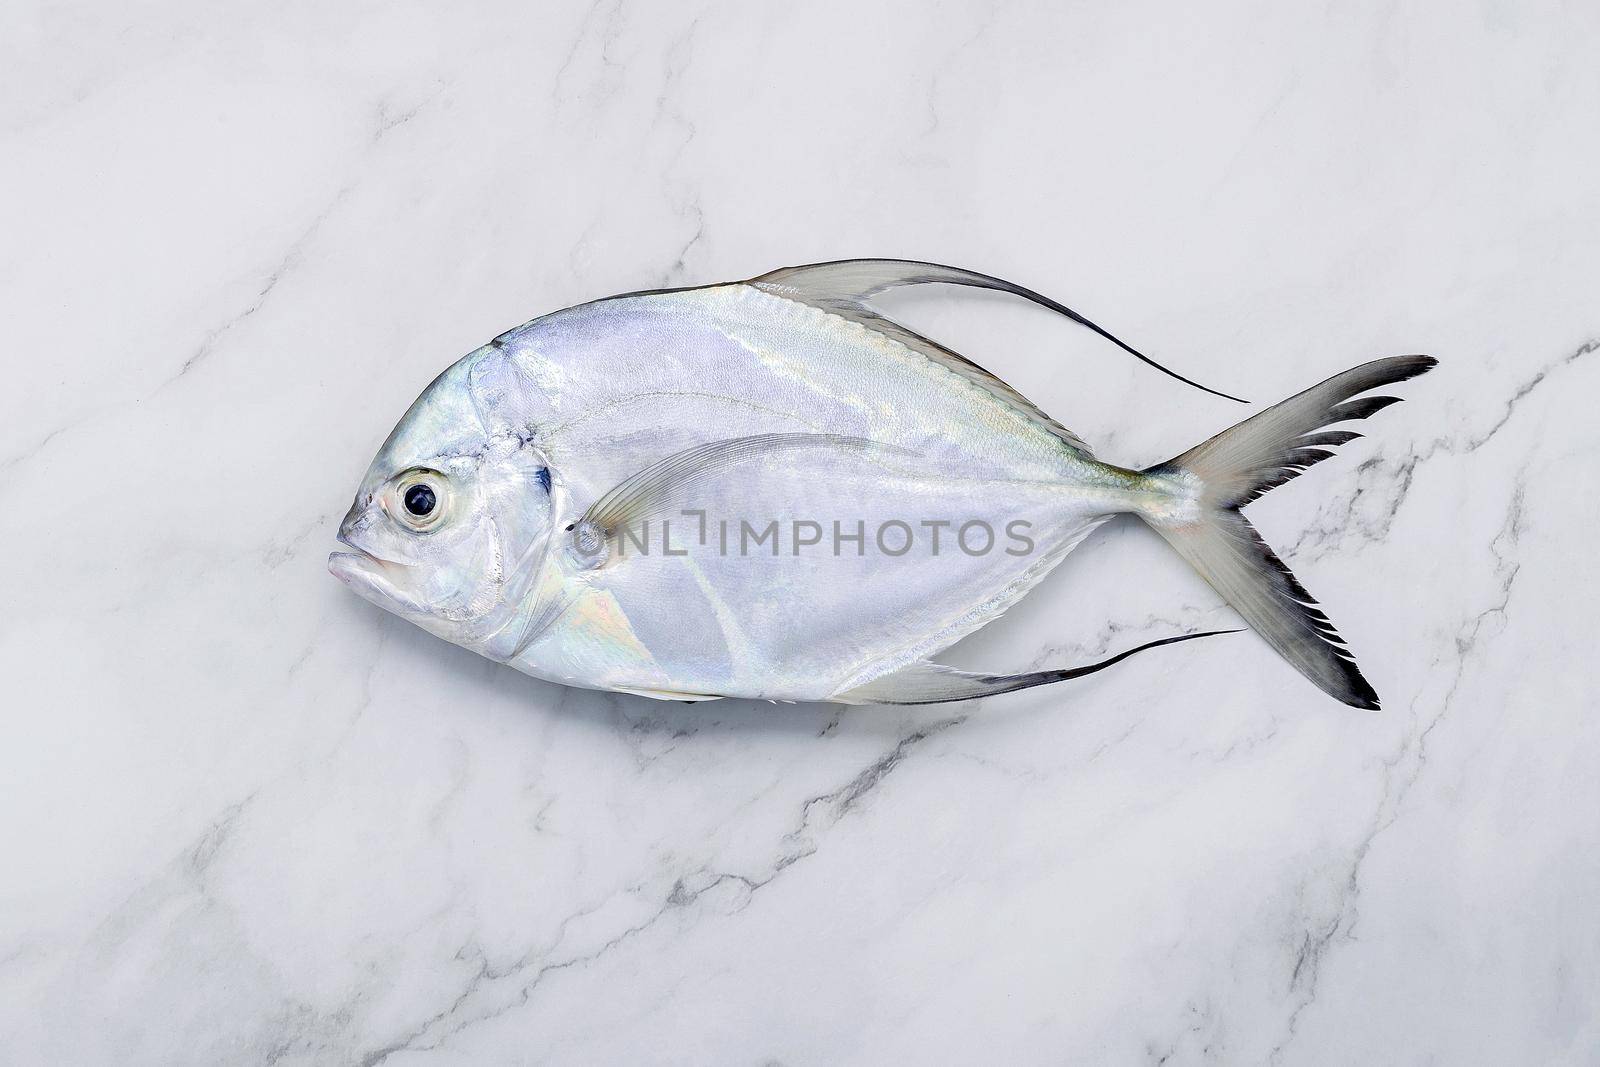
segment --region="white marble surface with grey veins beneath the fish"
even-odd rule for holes
[[[1600,1057],[1594,5],[3,19],[6,1062]],[[664,705],[326,574],[456,355],[859,254],[1258,402],[1438,355],[1253,509],[1387,710],[1250,635],[982,705]],[[894,307],[1110,459],[1242,414],[1034,307]],[[960,659],[1232,617],[1114,523]]]

